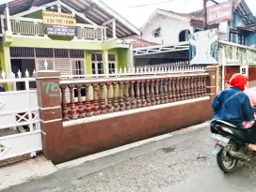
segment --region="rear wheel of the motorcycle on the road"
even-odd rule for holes
[[[238,150],[237,144],[230,141],[228,145],[224,147],[216,155],[217,166],[224,173],[231,173],[233,170],[235,170],[235,167],[238,163],[237,159],[234,159],[230,155],[228,155],[228,151],[230,150],[237,152]]]

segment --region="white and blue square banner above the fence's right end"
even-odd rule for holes
[[[189,35],[189,55],[191,64],[218,64],[217,30]]]

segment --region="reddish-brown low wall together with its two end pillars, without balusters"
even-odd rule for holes
[[[206,90],[209,97],[181,101],[168,105],[169,107],[167,104],[158,105],[154,110],[127,111],[126,115],[108,119],[102,116],[90,123],[78,121],[72,126],[65,126],[64,123],[63,126],[60,92],[51,89],[52,92],[56,91],[55,96],[48,96],[44,86],[45,82],[49,82],[56,87],[60,74],[40,71],[37,85],[43,155],[55,164],[62,163],[211,119],[211,103],[216,96],[216,66],[208,66],[207,72],[209,76]]]

